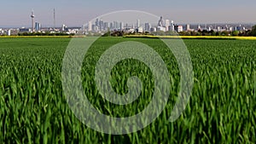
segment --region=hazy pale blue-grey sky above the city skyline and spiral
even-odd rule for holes
[[[32,9],[43,26],[82,26],[96,16],[116,10],[142,10],[177,23],[256,23],[255,0],[3,0],[1,26],[30,26]]]

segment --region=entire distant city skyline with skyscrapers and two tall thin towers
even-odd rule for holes
[[[0,35],[18,35],[20,33],[66,33],[66,34],[104,34],[106,32],[126,32],[126,33],[154,33],[154,32],[247,32],[251,30],[252,26],[249,25],[226,25],[226,24],[175,24],[173,20],[164,20],[160,16],[160,20],[155,21],[156,25],[149,22],[142,23],[141,20],[137,20],[135,24],[127,24],[122,21],[114,20],[112,22],[96,19],[95,21],[89,21],[87,25],[82,27],[67,27],[62,25],[61,27],[55,27],[55,9],[54,9],[54,26],[43,27],[41,23],[36,21],[36,16],[32,11],[31,27],[19,27],[19,28],[0,28]],[[82,32],[82,33],[81,33]]]

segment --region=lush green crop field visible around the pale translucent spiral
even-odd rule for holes
[[[88,38],[88,37],[84,37]],[[141,78],[142,94],[127,106],[104,101],[94,82],[102,53],[115,43],[147,43],[165,61],[172,84],[160,117],[143,130],[108,135],[91,130],[68,107],[61,66],[69,37],[0,38],[0,143],[256,143],[256,41],[184,39],[195,72],[189,104],[171,123],[180,74],[172,51],[159,39],[101,37],[84,57],[84,92],[96,109],[112,117],[143,111],[154,92],[152,72],[138,60],[120,61],[112,86],[127,93],[131,76]]]

